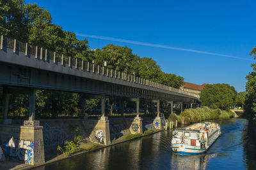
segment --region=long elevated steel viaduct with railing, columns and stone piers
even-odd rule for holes
[[[140,133],[142,133],[142,118],[139,117],[140,99],[157,103],[157,117],[154,124],[157,124],[156,128],[159,129],[162,127],[158,125],[163,121],[160,117],[160,101],[170,103],[172,109],[173,103],[179,103],[182,111],[183,104],[196,106],[199,99],[196,94],[146,80],[134,74],[121,73],[107,66],[98,66],[86,60],[51,52],[40,46],[29,45],[6,36],[0,38],[0,85],[3,86],[2,123],[4,125],[12,124],[12,120],[7,118],[10,93],[19,91],[29,94],[29,118],[20,127],[19,138],[31,141],[43,139],[43,127],[38,120],[35,120],[36,89],[77,92],[84,94],[84,99],[101,99],[102,116],[94,130],[102,129],[106,134],[105,145],[110,143],[109,120],[105,117],[105,103],[108,96],[120,97],[121,105],[124,105],[122,102],[124,99],[136,102],[137,117],[134,118],[133,124],[140,127],[136,131]],[[83,104],[81,115],[84,115],[84,107]],[[120,108],[122,108],[121,113],[124,113],[124,106]],[[12,142],[14,143],[10,140],[10,146]],[[44,162],[43,156],[37,160],[31,160],[32,163],[29,164]]]

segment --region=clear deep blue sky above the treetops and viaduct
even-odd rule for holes
[[[91,49],[109,43],[129,46],[140,57],[152,57],[164,72],[191,83],[229,83],[241,92],[245,90],[244,77],[252,71],[250,64],[255,62],[249,53],[256,46],[256,1],[26,3],[44,6],[64,30],[89,35],[85,38]]]

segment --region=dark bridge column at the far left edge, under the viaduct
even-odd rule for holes
[[[2,124],[12,124],[12,119],[8,118],[8,106],[10,100],[10,92],[6,87],[3,87],[3,102],[2,102],[2,112],[3,112],[3,120]]]

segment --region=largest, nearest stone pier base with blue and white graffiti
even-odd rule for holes
[[[45,162],[43,127],[38,120],[25,120],[24,125],[20,126],[19,148],[26,150],[26,164],[34,166]]]

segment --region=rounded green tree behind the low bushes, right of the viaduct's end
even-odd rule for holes
[[[200,101],[203,106],[228,110],[235,105],[237,92],[233,86],[225,83],[207,84],[200,94]]]

